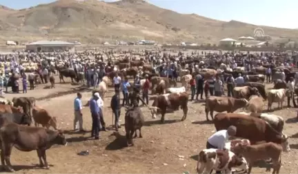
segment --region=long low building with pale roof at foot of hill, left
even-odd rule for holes
[[[52,52],[57,50],[74,50],[74,43],[66,41],[35,41],[26,45],[26,50],[34,52]]]

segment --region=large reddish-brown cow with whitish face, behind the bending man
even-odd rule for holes
[[[229,126],[236,126],[235,137],[249,139],[251,144],[264,141],[275,142],[281,144],[284,151],[290,151],[288,136],[277,132],[263,119],[239,113],[217,113],[214,124],[217,131],[226,130]]]

